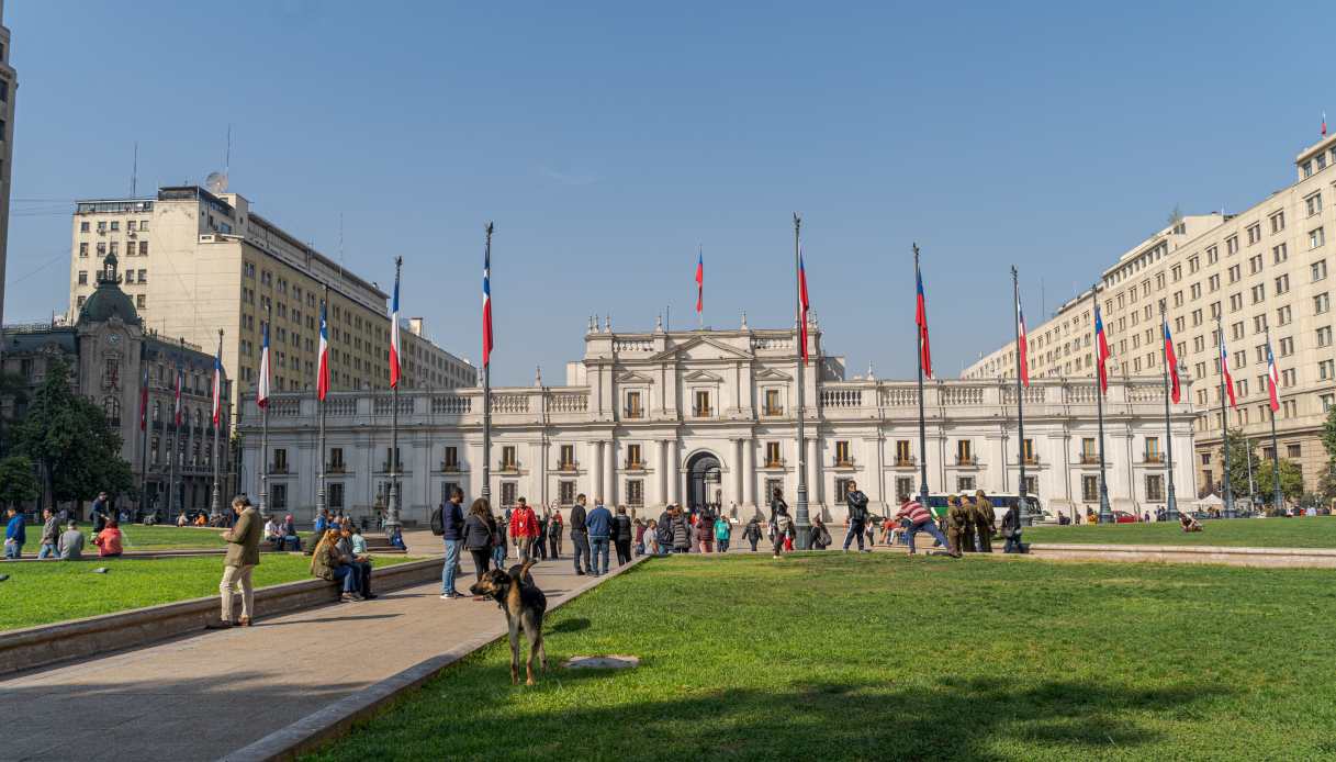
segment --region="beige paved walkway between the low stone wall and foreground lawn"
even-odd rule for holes
[[[409,537],[417,553],[438,543]],[[469,560],[464,569],[461,591],[473,583]],[[533,576],[549,604],[592,579],[576,576],[569,557],[540,563]],[[426,659],[505,632],[494,603],[441,600],[440,588],[436,582],[0,680],[0,758],[216,759]]]

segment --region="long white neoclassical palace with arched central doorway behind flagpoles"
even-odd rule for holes
[[[844,483],[858,480],[875,512],[918,491],[927,459],[933,492],[1027,491],[1046,509],[1098,505],[1093,380],[1035,380],[1025,390],[1025,442],[1015,390],[999,381],[927,381],[927,452],[919,449],[914,381],[844,380],[842,357],[810,332],[804,373],[807,483],[812,512],[842,520]],[[794,330],[613,333],[591,321],[584,358],[566,384],[493,389],[492,495],[501,504],[569,505],[577,493],[657,513],[665,503],[719,503],[748,516],[780,487],[798,487]],[[1173,405],[1177,495],[1197,496],[1188,400]],[[399,394],[405,523],[424,523],[453,485],[482,488],[482,390]],[[387,392],[337,392],[326,401],[326,495],[353,516],[383,505],[390,479]],[[318,402],[277,394],[269,422],[269,507],[310,520],[317,497]],[[254,397],[239,422],[242,485],[261,491],[261,416]],[[1158,381],[1116,382],[1105,401],[1105,448],[1114,509],[1154,511],[1165,500],[1166,432]]]

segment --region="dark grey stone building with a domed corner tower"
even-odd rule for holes
[[[147,332],[130,295],[120,289],[115,257],[104,258],[96,282],[73,325],[5,326],[7,349],[0,366],[23,378],[31,390],[43,382],[53,361],[67,362],[75,392],[99,405],[120,434],[120,456],[130,463],[135,481],[144,485],[147,505],[167,509],[171,452],[175,449],[176,507],[207,509],[214,485],[214,356],[183,338]],[[172,416],[178,369],[183,377],[179,426]],[[146,373],[148,421],[140,428]],[[230,385],[231,381],[224,380],[224,389]],[[3,413],[11,420],[23,417],[21,396],[3,400]],[[230,432],[231,406],[224,405],[218,453],[222,489],[228,492],[235,484]],[[118,497],[120,505],[134,503]]]

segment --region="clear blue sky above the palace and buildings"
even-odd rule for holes
[[[914,373],[910,243],[941,376],[1185,213],[1293,178],[1336,114],[1321,3],[49,3],[19,71],[5,320],[67,305],[75,198],[223,162],[265,217],[478,360],[562,381],[587,318],[792,325],[791,213],[850,372]],[[1305,41],[1307,40],[1307,41]]]

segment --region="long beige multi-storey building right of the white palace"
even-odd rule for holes
[[[1196,468],[1202,489],[1220,481],[1220,333],[1225,332],[1241,428],[1271,456],[1267,396],[1267,330],[1280,370],[1276,414],[1281,457],[1299,463],[1305,489],[1327,468],[1321,426],[1336,404],[1336,346],[1331,298],[1336,267],[1336,136],[1295,158],[1296,180],[1237,214],[1174,219],[1118,258],[1094,286],[1113,372],[1161,374],[1160,305],[1164,303],[1180,368],[1190,376],[1197,410]],[[1092,291],[1063,305],[1029,332],[1030,376],[1094,373]],[[1014,376],[1011,342],[982,357],[966,378]],[[1259,487],[1259,492],[1268,492]]]

